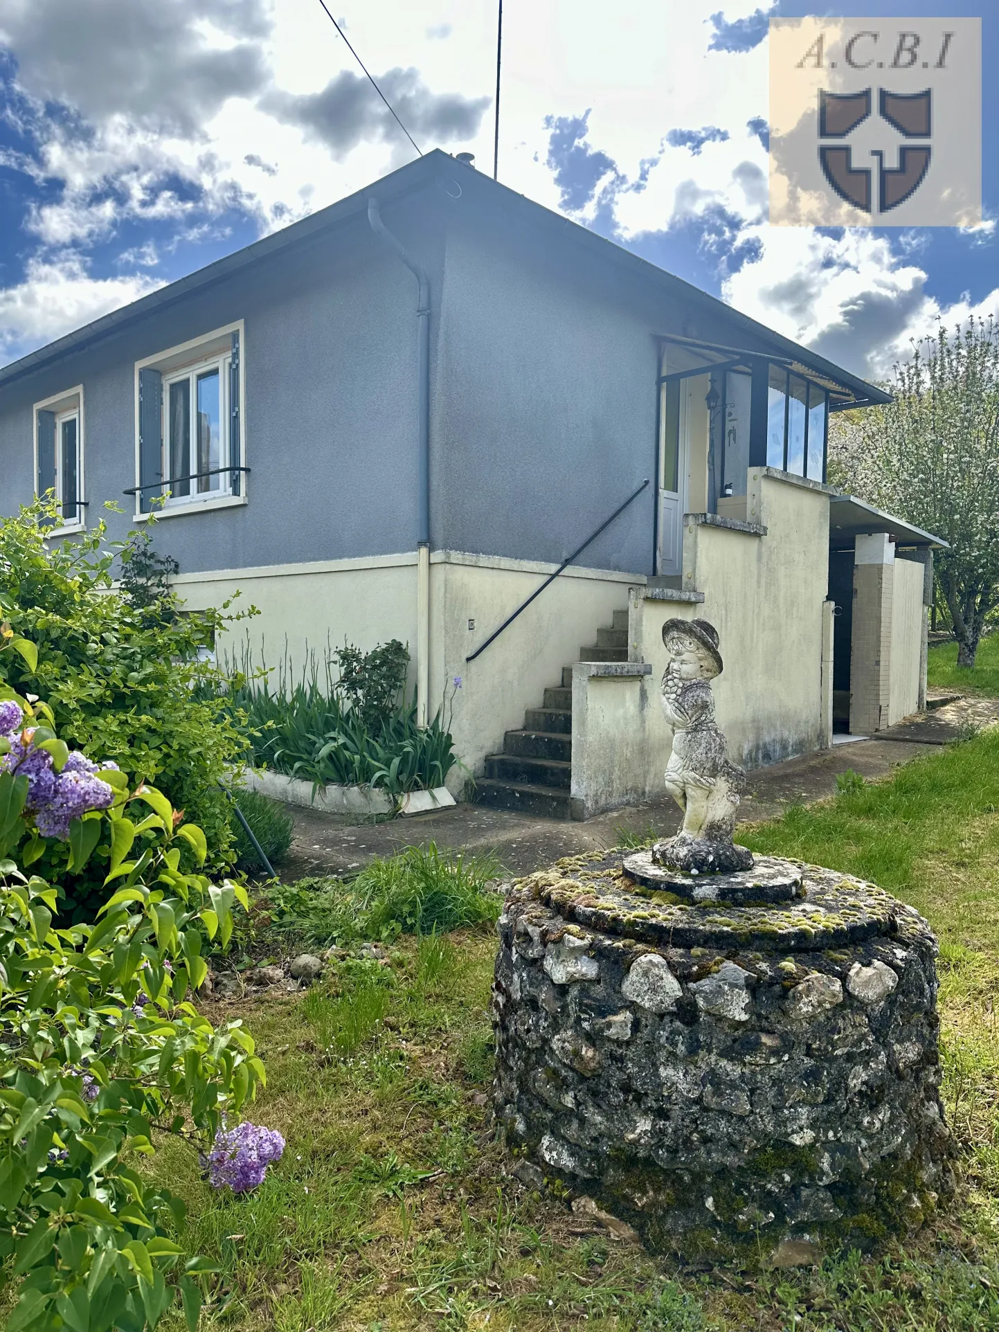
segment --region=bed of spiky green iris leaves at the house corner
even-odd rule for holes
[[[328,649],[322,662],[310,653],[296,675],[288,654],[269,671],[244,646],[238,662],[225,666],[225,702],[258,766],[316,786],[432,790],[444,786],[457,757],[444,707],[420,727],[416,702],[402,699],[408,663],[393,639],[370,653]]]

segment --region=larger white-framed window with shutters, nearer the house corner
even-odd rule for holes
[[[137,517],[245,503],[242,325],[136,365]]]

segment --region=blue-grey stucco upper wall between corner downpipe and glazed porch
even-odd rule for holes
[[[441,320],[434,539],[558,561],[649,477],[581,563],[651,573],[657,346],[627,293],[454,208]]]

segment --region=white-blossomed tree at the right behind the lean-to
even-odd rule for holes
[[[999,328],[940,326],[888,388],[891,405],[838,421],[830,480],[948,543],[934,555],[936,586],[958,665],[971,667],[999,605]]]

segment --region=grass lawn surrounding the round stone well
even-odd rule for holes
[[[790,1272],[683,1268],[587,1231],[565,1203],[503,1175],[486,1106],[496,935],[488,923],[465,924],[444,936],[401,936],[389,966],[341,962],[304,994],[272,990],[208,1006],[213,1019],[242,1016],[258,1040],[268,1087],[249,1118],[280,1128],[288,1148],[244,1197],[213,1193],[180,1144],[152,1163],[186,1195],[188,1243],[222,1267],[202,1325],[999,1328],[999,731],[918,759],[884,783],[847,777],[840,786],[835,801],[741,836],[761,852],[874,879],[936,930],[946,1102],[963,1175],[946,1215],[879,1257],[844,1253]],[[474,864],[462,875],[469,920]],[[365,919],[382,918],[380,903],[398,894],[397,880],[392,891],[368,880]],[[345,890],[328,891],[304,912],[313,938],[324,920],[326,934],[348,928]],[[296,902],[286,898],[277,923]],[[244,931],[254,956],[302,942],[282,939],[261,914]]]

